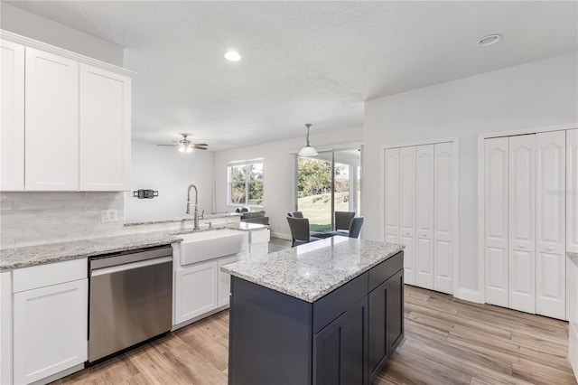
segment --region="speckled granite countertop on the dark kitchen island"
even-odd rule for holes
[[[314,302],[404,249],[374,240],[332,237],[221,267],[232,276]]]

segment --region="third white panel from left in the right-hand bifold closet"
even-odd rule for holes
[[[565,318],[566,132],[536,135],[536,313]]]

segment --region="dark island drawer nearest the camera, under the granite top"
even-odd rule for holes
[[[351,305],[368,295],[368,273],[363,273],[349,283],[333,290],[313,303],[313,333],[318,333]]]

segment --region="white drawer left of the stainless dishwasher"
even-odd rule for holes
[[[87,258],[50,263],[13,271],[14,293],[88,277]]]

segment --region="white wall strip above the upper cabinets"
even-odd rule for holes
[[[124,49],[122,47],[13,5],[7,5],[5,2],[0,3],[0,26],[3,30],[12,33],[100,61],[107,61],[119,67],[123,66]]]

